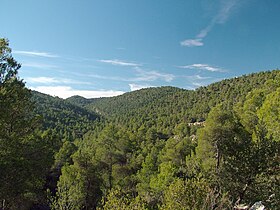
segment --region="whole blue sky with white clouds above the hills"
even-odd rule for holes
[[[279,68],[277,0],[3,0],[34,90],[66,98],[199,86]]]

